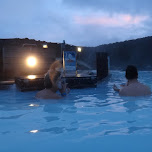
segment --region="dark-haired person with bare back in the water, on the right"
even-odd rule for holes
[[[151,94],[150,88],[137,80],[138,71],[135,66],[129,65],[125,76],[128,81],[125,85],[121,85],[121,89],[115,84],[113,86],[113,89],[119,92],[121,96],[146,96]]]

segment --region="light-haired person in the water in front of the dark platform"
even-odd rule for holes
[[[45,89],[36,94],[36,98],[40,99],[60,99],[69,93],[69,88],[65,81],[62,81],[62,64],[59,60],[51,64],[49,71],[44,77]],[[57,94],[57,91],[61,95]]]

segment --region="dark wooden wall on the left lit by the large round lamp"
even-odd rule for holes
[[[57,52],[61,52],[60,44],[48,43],[48,48],[44,49],[43,44],[46,42],[29,39],[1,40],[0,44],[0,79],[44,74],[59,54]],[[37,65],[34,68],[30,68],[26,64],[26,59],[29,56],[37,58]]]

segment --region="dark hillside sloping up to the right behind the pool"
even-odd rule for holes
[[[107,52],[111,69],[124,70],[128,64],[133,64],[139,70],[152,70],[152,36],[83,49],[81,60],[93,67],[95,52]]]

